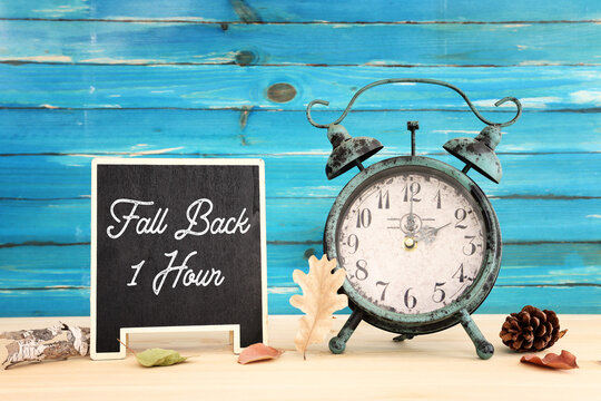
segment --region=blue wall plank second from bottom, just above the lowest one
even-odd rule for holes
[[[296,288],[292,272],[306,271],[311,255],[321,257],[321,243],[270,242],[269,287],[273,292]],[[21,245],[1,247],[2,291],[88,288],[89,244]],[[597,284],[601,268],[594,266],[599,243],[505,243],[497,286],[582,286]],[[575,268],[574,266],[584,266]]]

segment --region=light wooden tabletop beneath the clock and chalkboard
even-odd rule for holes
[[[346,316],[338,316],[337,329]],[[580,369],[553,371],[520,363],[499,339],[504,316],[475,315],[495,346],[477,359],[461,326],[394,343],[393,334],[359,324],[346,352],[312,345],[307,360],[294,351],[298,316],[269,316],[270,345],[279,360],[240,365],[227,333],[138,334],[134,350],[174,348],[197,354],[189,362],[145,369],[132,355],[118,361],[88,358],[0,371],[1,400],[601,400],[601,315],[560,315],[568,334],[548,351],[569,350]],[[58,317],[0,319],[0,332],[45,327]],[[88,325],[89,317],[65,317]]]

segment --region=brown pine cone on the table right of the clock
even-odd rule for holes
[[[499,336],[513,351],[536,352],[553,345],[566,331],[560,331],[555,312],[528,305],[505,317]]]

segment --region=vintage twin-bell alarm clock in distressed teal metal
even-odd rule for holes
[[[465,163],[463,170],[440,160],[415,155],[417,121],[408,121],[411,156],[384,159],[364,168],[362,163],[383,148],[370,137],[353,138],[339,123],[356,98],[370,88],[397,82],[440,85],[455,90],[475,116],[487,126],[475,138],[456,138],[443,148]],[[491,123],[455,86],[433,79],[385,79],[359,89],[334,123],[312,125],[327,128],[333,150],[326,165],[328,179],[357,167],[337,196],[325,225],[324,253],[346,271],[341,288],[353,311],[343,329],[329,342],[333,353],[342,353],[361,321],[401,334],[395,341],[412,339],[461,323],[472,339],[477,355],[494,352],[470,316],[491,292],[501,263],[501,231],[491,203],[466,175],[474,169],[499,183],[501,164],[494,153],[501,127],[521,115],[520,101],[512,97],[515,117]]]

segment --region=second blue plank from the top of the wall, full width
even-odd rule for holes
[[[8,63],[574,66],[599,65],[601,40],[595,22],[231,25],[224,30],[220,23],[27,20],[2,21],[2,27],[0,60]],[[242,51],[252,57],[243,62]]]

